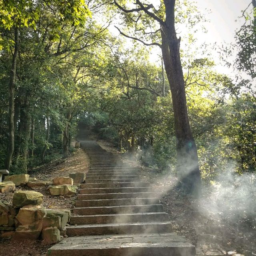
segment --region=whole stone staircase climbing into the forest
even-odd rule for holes
[[[194,256],[195,248],[172,233],[172,224],[149,182],[95,141],[81,143],[91,165],[67,227],[68,238],[50,256]]]

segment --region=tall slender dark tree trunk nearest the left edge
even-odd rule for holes
[[[14,30],[14,54],[12,56],[12,70],[10,72],[10,82],[9,82],[9,114],[8,114],[8,145],[6,152],[5,166],[7,170],[10,170],[12,165],[12,154],[14,151],[14,92],[15,92],[15,80],[16,80],[16,67],[17,67],[17,57],[19,51],[19,30],[16,27]]]

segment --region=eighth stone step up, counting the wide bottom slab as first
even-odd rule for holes
[[[131,188],[149,187],[150,182],[84,183],[80,188]]]

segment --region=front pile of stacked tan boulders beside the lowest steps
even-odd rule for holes
[[[35,191],[20,190],[14,193],[12,205],[0,202],[2,238],[16,240],[38,239],[48,244],[60,242],[60,232],[70,221],[69,210],[46,209],[42,206],[43,195]]]

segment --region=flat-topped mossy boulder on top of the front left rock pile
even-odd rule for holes
[[[21,208],[25,205],[40,205],[43,202],[44,196],[35,191],[20,190],[14,193],[12,204],[14,208]]]

